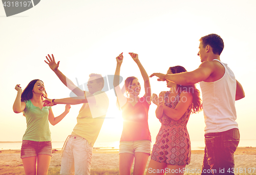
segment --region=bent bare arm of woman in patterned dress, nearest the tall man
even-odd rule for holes
[[[163,112],[169,118],[177,121],[184,115],[189,105],[191,105],[192,101],[193,96],[190,93],[183,91],[180,95],[180,101],[177,106],[174,109],[164,106]]]

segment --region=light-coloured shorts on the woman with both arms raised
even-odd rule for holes
[[[119,154],[136,152],[151,154],[150,140],[120,141]]]

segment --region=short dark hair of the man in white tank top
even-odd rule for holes
[[[200,38],[199,41],[202,41],[204,48],[206,47],[206,45],[210,45],[214,54],[221,55],[224,48],[224,42],[219,35],[209,34]]]

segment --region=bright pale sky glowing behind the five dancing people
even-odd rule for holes
[[[12,105],[16,84],[24,89],[33,79],[44,81],[49,98],[65,98],[70,90],[44,62],[47,54],[60,61],[59,70],[81,85],[90,73],[113,75],[116,57],[124,53],[120,75],[135,76],[139,68],[128,55],[137,53],[148,73],[166,73],[181,65],[192,71],[200,65],[199,39],[216,33],[224,40],[221,61],[227,63],[242,84],[245,98],[236,101],[241,140],[256,140],[254,93],[256,76],[256,1],[40,1],[35,7],[6,17],[0,5],[0,141],[21,141],[26,118],[15,114]],[[165,82],[150,79],[152,92],[166,91]],[[123,85],[123,82],[121,83]],[[199,85],[198,88],[200,89]],[[106,92],[110,107],[97,141],[119,141],[122,118],[116,109],[113,89]],[[143,96],[144,91],[141,91]],[[50,126],[53,141],[71,134],[81,105],[56,126]],[[52,108],[55,116],[65,105]],[[152,104],[148,115],[152,140],[161,123]],[[190,115],[187,129],[191,140],[204,139],[203,112]],[[248,145],[256,146],[256,145]]]

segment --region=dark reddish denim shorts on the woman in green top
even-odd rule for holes
[[[20,151],[20,158],[34,157],[38,155],[52,156],[52,142],[51,141],[31,141],[23,140],[22,149]]]

